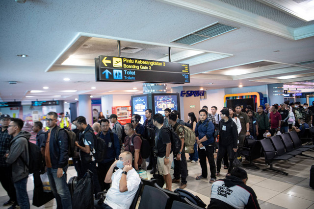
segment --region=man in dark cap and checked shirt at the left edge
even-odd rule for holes
[[[14,202],[16,203],[16,193],[12,181],[12,166],[6,163],[6,158],[4,158],[4,155],[10,148],[10,141],[13,139],[13,137],[8,134],[8,126],[10,122],[11,117],[9,115],[3,114],[0,116],[0,182],[10,197],[8,201],[3,203],[3,206],[12,205]],[[14,204],[12,208],[15,208],[16,204]]]

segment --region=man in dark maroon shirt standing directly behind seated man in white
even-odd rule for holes
[[[124,130],[127,134],[125,139],[125,151],[132,153],[132,166],[135,168],[135,170],[138,170],[138,167],[142,164],[142,157],[140,155],[142,139],[133,131],[132,123],[127,123],[124,127]]]

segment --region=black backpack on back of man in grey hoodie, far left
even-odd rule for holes
[[[26,138],[25,136],[23,137]],[[40,148],[36,144],[29,142],[29,138],[26,139],[28,143],[29,164],[27,164],[22,157],[20,158],[25,166],[28,168],[28,173],[41,173],[45,168],[45,164],[43,155],[40,152]]]

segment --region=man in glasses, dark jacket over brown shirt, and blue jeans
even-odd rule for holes
[[[60,127],[57,126],[58,115],[55,112],[49,112],[45,120],[49,127],[45,146],[45,161],[51,189],[57,202],[57,208],[72,209],[66,175],[69,161],[68,135],[64,130],[58,132]],[[58,135],[56,135],[57,132]]]

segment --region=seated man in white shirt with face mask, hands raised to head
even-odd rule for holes
[[[125,151],[119,155],[119,160],[112,163],[105,183],[110,184],[103,205],[95,204],[96,209],[129,209],[141,183],[138,173],[132,167],[132,154]],[[114,167],[119,169],[113,172]]]

